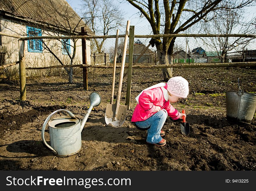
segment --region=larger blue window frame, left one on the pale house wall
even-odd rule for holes
[[[27,26],[27,35],[31,36],[42,36],[41,29]],[[42,52],[42,42],[40,39],[28,40],[28,51],[29,52]]]

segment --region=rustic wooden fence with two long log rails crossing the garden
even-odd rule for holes
[[[19,63],[19,77],[20,77],[20,99],[26,100],[26,69],[46,69],[46,68],[57,68],[57,67],[82,67],[86,69],[88,67],[95,68],[113,68],[113,66],[109,66],[109,55],[107,53],[104,54],[93,54],[92,61],[94,63],[102,63],[102,65],[61,65],[61,66],[50,66],[50,67],[41,67],[41,68],[26,68],[25,66],[25,40],[30,39],[69,39],[69,38],[81,38],[81,39],[90,39],[90,38],[116,38],[116,35],[109,36],[35,36],[35,37],[26,37],[21,38],[17,35],[7,34],[0,32],[0,35],[6,35],[14,38],[19,38],[19,61],[13,63],[11,65]],[[125,35],[119,35],[120,37],[125,37]],[[245,37],[245,38],[256,38],[256,35],[248,35],[248,34],[161,34],[161,35],[134,35],[134,26],[130,26],[129,31],[129,42],[133,44],[134,38],[161,38],[161,37]],[[149,44],[150,45],[150,44]],[[148,45],[148,47],[149,47]],[[129,52],[133,52],[133,46],[129,46]],[[142,54],[141,54],[142,55]],[[97,60],[97,61],[96,61]],[[249,67],[256,66],[256,62],[250,63],[191,63],[191,64],[170,64],[170,65],[154,65],[154,66],[135,66],[137,61],[133,62],[133,54],[129,54],[129,65],[128,65],[128,77],[127,77],[127,95],[126,95],[126,103],[125,105],[130,106],[130,93],[131,93],[131,71],[132,68],[174,68],[174,67]],[[1,67],[8,67],[7,65]],[[117,66],[120,67],[120,66]],[[87,81],[87,75],[83,75],[83,81]]]

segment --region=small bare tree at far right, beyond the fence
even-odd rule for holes
[[[211,21],[205,21],[204,27],[206,33],[218,33],[218,34],[232,34],[234,31],[239,31],[242,34],[254,34],[256,27],[254,21],[256,17],[249,21],[245,18],[245,8],[237,8],[233,10],[234,2],[227,3],[226,8],[218,10],[214,13],[215,17]],[[218,53],[218,57],[221,62],[227,62],[227,53],[233,49],[239,47],[243,51],[245,47],[250,43],[250,40],[254,38],[241,38],[241,37],[219,37],[209,38],[210,41],[205,43],[214,48]]]

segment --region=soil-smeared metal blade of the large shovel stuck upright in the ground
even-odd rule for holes
[[[107,125],[120,127],[125,122],[127,106],[119,105],[118,111],[116,110],[116,104],[107,104],[105,113],[105,122]],[[115,113],[116,117],[115,117]]]

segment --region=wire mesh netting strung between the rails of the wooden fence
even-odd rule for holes
[[[120,30],[119,35],[125,34],[125,30]],[[143,27],[138,27],[135,30],[135,34],[143,34]],[[115,35],[115,34],[111,34]],[[124,35],[123,35],[124,36]],[[162,68],[157,68],[161,65],[157,55],[156,46],[150,41],[152,38],[145,37],[134,38],[133,49],[133,67],[131,77],[131,92],[139,93],[141,90],[154,85],[159,82],[163,82]],[[70,40],[70,49],[66,49],[63,52],[63,46],[61,46],[62,39],[43,39],[46,44],[51,44],[51,49],[42,49],[41,52],[29,52],[28,40],[25,41],[25,64],[26,64],[26,87],[27,93],[32,91],[34,85],[40,85],[41,89],[47,89],[47,91],[53,91],[56,87],[62,88],[66,85],[66,90],[71,87],[77,90],[83,90],[84,76],[83,67],[81,64],[91,65],[87,68],[87,82],[88,89],[93,91],[106,92],[110,95],[112,78],[113,78],[113,59],[115,51],[115,38],[105,38],[102,49],[95,47],[95,40],[101,41],[100,38],[86,39],[86,63],[82,60],[82,43],[81,38]],[[225,47],[226,53],[222,54],[223,40],[230,42],[229,47]],[[76,53],[74,53],[74,41],[77,42]],[[242,43],[245,42],[246,43]],[[6,90],[6,81],[17,81],[19,78],[19,65],[12,65],[19,60],[19,47],[17,45],[17,39],[2,35],[0,46],[0,91]],[[115,87],[117,88],[120,65],[123,53],[124,37],[118,38],[118,50],[117,50],[117,68]],[[16,46],[17,45],[17,46]],[[222,47],[222,48],[220,48]],[[67,51],[70,51],[67,54]],[[51,54],[54,52],[55,55]],[[126,96],[127,88],[127,74],[129,65],[129,40],[125,59],[124,79],[122,86],[122,97]],[[169,64],[174,64],[176,67],[172,69],[173,76],[183,76],[188,81],[193,82],[200,80],[201,86],[195,87],[191,83],[191,90],[198,93],[207,92],[209,81],[214,84],[218,81],[218,84],[222,84],[218,87],[218,92],[223,90],[237,90],[237,79],[240,77],[243,80],[244,91],[256,92],[256,80],[248,81],[248,76],[255,76],[255,67],[216,67],[216,63],[254,63],[256,62],[256,39],[255,37],[240,38],[237,37],[176,37],[175,45],[173,47],[173,54],[168,58]],[[54,67],[64,65],[78,65],[77,67]],[[212,67],[182,67],[182,65],[194,63],[212,64]],[[1,67],[6,65],[12,65],[8,67]],[[177,65],[181,67],[177,67]],[[51,67],[52,66],[52,67]],[[103,66],[103,67],[101,67]],[[49,68],[51,67],[51,68]],[[246,67],[246,70],[243,68]],[[69,76],[67,69],[72,68],[72,86],[69,83]],[[246,72],[245,72],[246,71]],[[205,74],[214,73],[215,78],[207,78]],[[223,80],[225,79],[225,80]],[[255,79],[255,77],[254,77]],[[223,83],[222,83],[223,81]],[[225,81],[225,83],[224,83]],[[17,86],[17,88],[19,88]],[[38,86],[37,86],[38,88]],[[17,89],[19,91],[19,89]],[[68,93],[68,91],[67,91]],[[134,97],[131,97],[131,101],[135,102]]]

